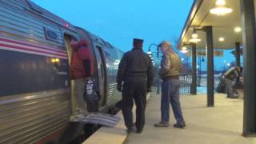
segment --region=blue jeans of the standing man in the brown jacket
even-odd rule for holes
[[[181,82],[178,79],[170,79],[162,82],[161,98],[161,121],[169,122],[170,104],[174,110],[174,116],[177,122],[184,122],[182,116],[181,104],[179,102],[179,88]]]

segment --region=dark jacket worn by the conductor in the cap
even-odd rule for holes
[[[118,84],[126,81],[126,78],[147,78],[147,87],[150,88],[154,81],[154,66],[150,57],[142,49],[134,48],[126,52],[118,67]]]

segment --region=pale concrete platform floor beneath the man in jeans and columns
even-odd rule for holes
[[[242,137],[243,102],[215,94],[215,107],[206,107],[206,95],[181,98],[186,129],[155,128],[160,120],[160,97],[151,96],[146,108],[146,126],[142,134],[129,134],[126,144],[256,144],[256,138]],[[171,114],[171,124],[174,124]]]

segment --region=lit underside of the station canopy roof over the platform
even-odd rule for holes
[[[218,6],[221,2],[221,5]],[[210,10],[226,7],[228,14],[212,14]],[[200,30],[204,26],[213,26],[214,49],[232,49],[235,42],[242,44],[242,19],[240,0],[194,0],[190,14],[179,38],[179,48],[190,43],[194,28],[198,34],[198,49],[206,48],[206,33]],[[197,30],[199,29],[199,30]],[[190,48],[190,47],[188,47]]]

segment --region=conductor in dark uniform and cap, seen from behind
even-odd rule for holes
[[[132,109],[136,105],[137,133],[142,133],[145,125],[146,93],[150,92],[154,81],[154,66],[150,57],[142,50],[143,40],[134,38],[134,47],[126,52],[118,67],[118,91],[122,91],[122,114],[127,133],[133,130]]]

